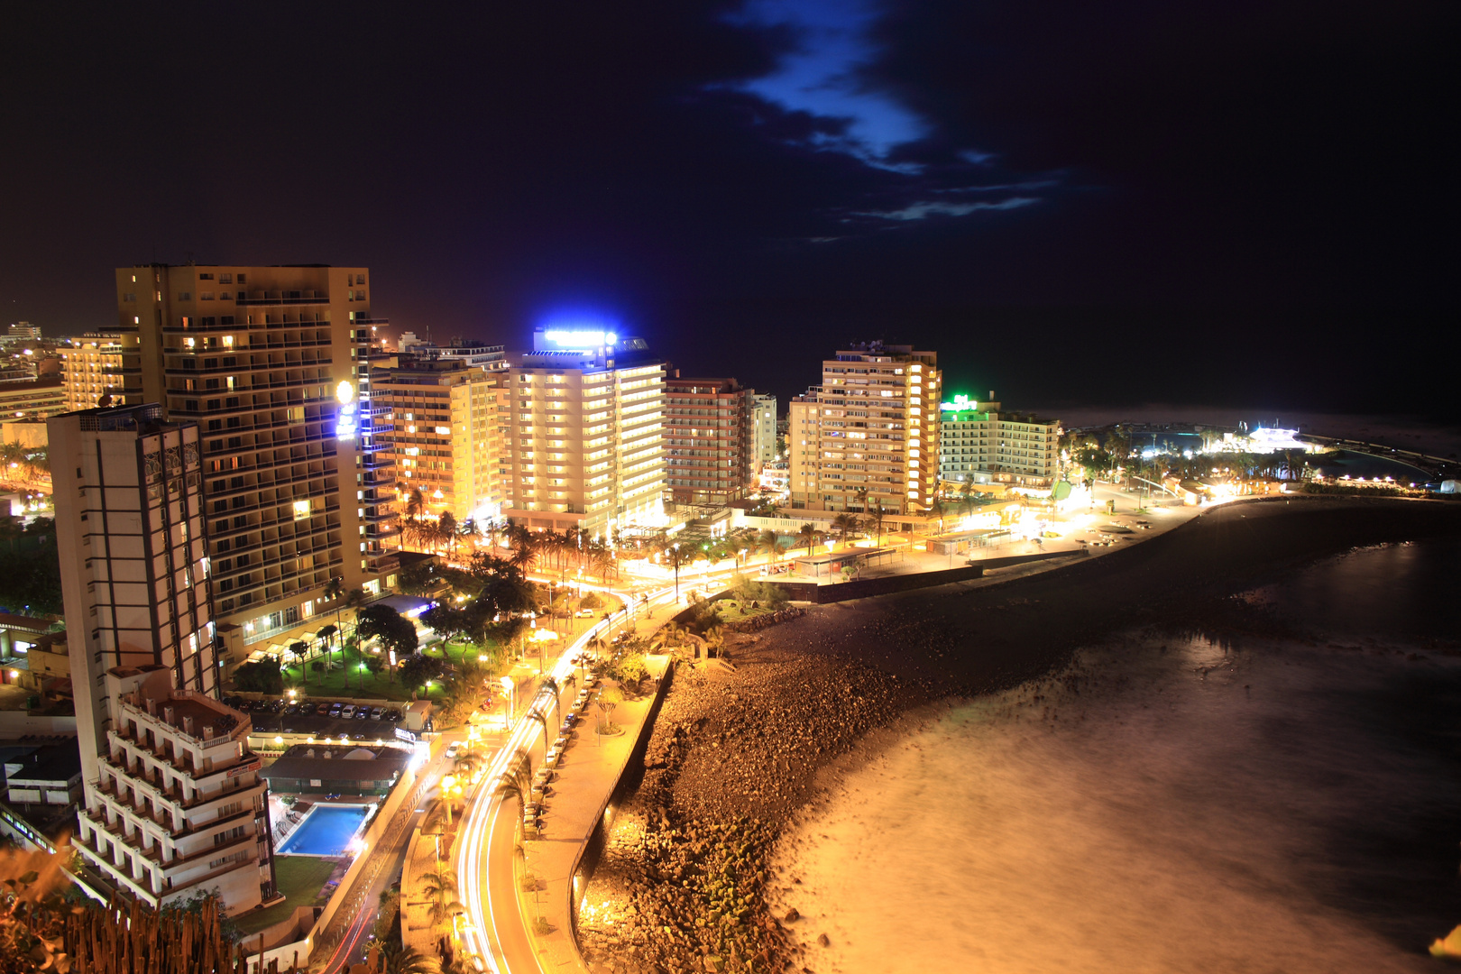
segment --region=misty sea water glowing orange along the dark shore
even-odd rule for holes
[[[1435,970],[1461,923],[1458,561],[1354,551],[1245,593],[1264,635],[1132,632],[929,716],[783,840],[801,962]]]

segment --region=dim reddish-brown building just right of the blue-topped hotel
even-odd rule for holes
[[[733,378],[665,380],[665,483],[672,501],[725,504],[745,496],[755,476],[754,399],[755,390]]]

